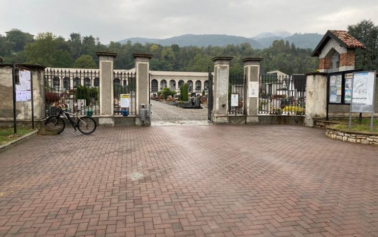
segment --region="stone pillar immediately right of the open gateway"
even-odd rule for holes
[[[228,124],[228,77],[233,57],[214,57],[214,117],[215,124]]]

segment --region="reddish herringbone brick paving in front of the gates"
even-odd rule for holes
[[[300,126],[99,127],[0,153],[0,236],[378,236],[378,148]]]

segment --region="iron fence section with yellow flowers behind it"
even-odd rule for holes
[[[305,114],[306,76],[304,74],[291,76],[262,74],[259,87],[259,114]]]

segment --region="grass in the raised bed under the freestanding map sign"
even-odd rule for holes
[[[334,128],[352,131],[370,131],[370,118],[362,118],[361,124],[358,118],[352,118],[352,127],[349,129],[349,119],[333,120],[340,122],[333,125]],[[373,119],[373,132],[378,133],[378,118]]]

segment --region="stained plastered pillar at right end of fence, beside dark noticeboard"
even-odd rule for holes
[[[306,118],[305,126],[314,126],[316,119],[326,117],[327,74],[315,72],[307,74],[306,79]]]

